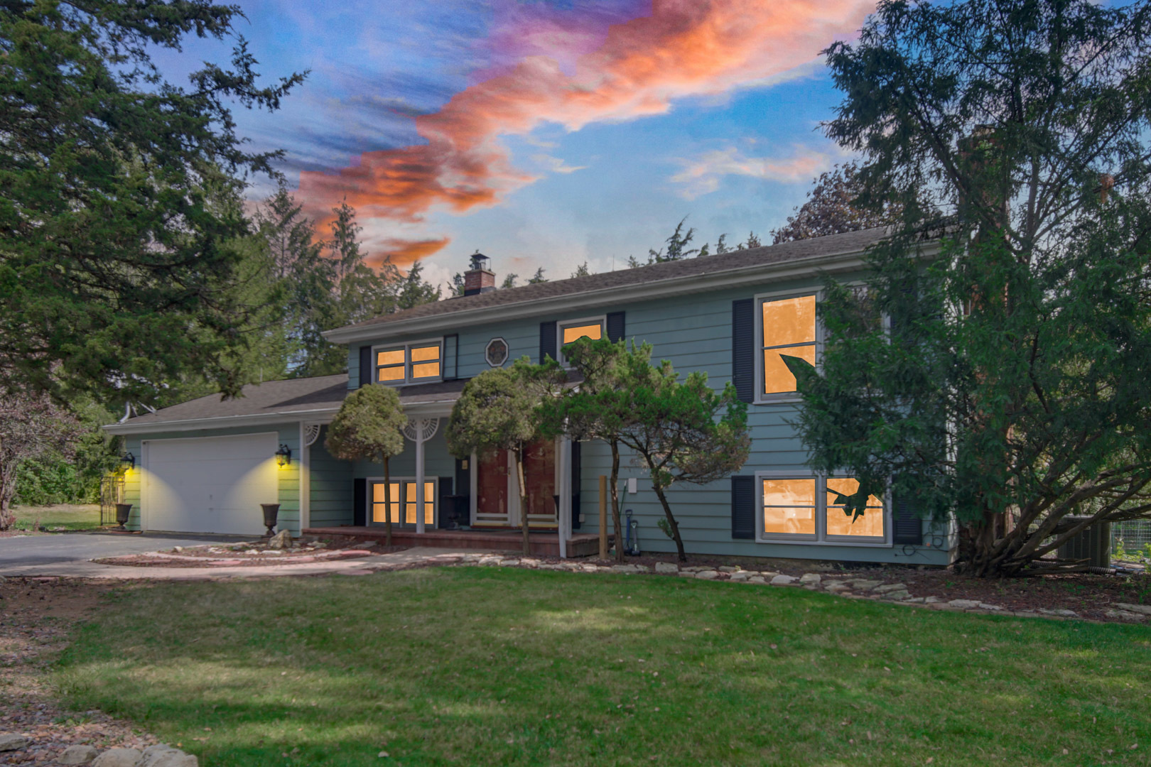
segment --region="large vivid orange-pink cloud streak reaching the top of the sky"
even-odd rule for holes
[[[615,24],[574,70],[533,55],[416,118],[427,143],[366,152],[335,172],[300,174],[313,208],[346,197],[360,216],[419,222],[435,205],[489,206],[536,177],[511,166],[501,135],[542,123],[662,114],[677,98],[778,77],[857,30],[874,0],[653,0],[651,15]]]

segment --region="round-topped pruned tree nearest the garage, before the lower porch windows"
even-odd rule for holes
[[[383,534],[391,545],[391,470],[388,461],[404,452],[404,427],[407,416],[392,386],[373,384],[348,394],[336,417],[328,427],[323,444],[328,452],[344,461],[380,461],[383,463]],[[397,499],[398,500],[398,499]],[[372,501],[368,500],[371,506]]]

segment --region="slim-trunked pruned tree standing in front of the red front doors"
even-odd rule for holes
[[[650,355],[650,347],[647,347]],[[624,430],[634,420],[631,392],[624,385],[623,340],[579,338],[563,348],[564,359],[582,377],[563,397],[546,401],[542,413],[547,434],[572,439],[600,439],[611,450],[611,523],[616,531],[616,560],[624,561],[624,528],[619,516],[619,448]]]

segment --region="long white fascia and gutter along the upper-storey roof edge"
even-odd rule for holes
[[[710,258],[710,256],[709,256]],[[657,298],[673,298],[689,293],[702,293],[724,287],[745,285],[748,281],[761,278],[787,279],[792,277],[814,277],[820,273],[831,274],[851,271],[863,267],[863,252],[834,253],[796,261],[779,263],[757,263],[740,269],[724,269],[714,273],[687,275],[658,279],[638,285],[613,285],[601,290],[592,290],[570,296],[541,298],[519,304],[500,304],[475,309],[434,314],[427,317],[382,322],[378,325],[356,328],[336,328],[321,333],[333,344],[353,344],[372,340],[386,342],[395,337],[406,337],[414,332],[433,332],[451,330],[464,324],[477,324],[497,320],[523,320],[539,316],[543,312],[564,312],[569,308],[599,308],[619,304],[628,304]]]

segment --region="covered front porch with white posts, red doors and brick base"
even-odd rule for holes
[[[407,440],[404,452],[389,460],[387,480],[382,463],[331,457],[325,447],[326,423],[310,428],[302,532],[382,539],[390,519],[398,545],[519,550],[526,514],[533,552],[595,553],[597,530],[578,532],[579,444],[549,439],[525,451],[521,501],[512,454],[493,451],[457,459],[448,452],[444,427],[460,389],[463,382],[448,382],[410,386],[401,396]]]

